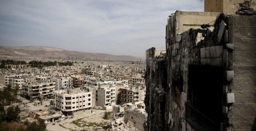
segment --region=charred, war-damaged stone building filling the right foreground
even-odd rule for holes
[[[237,5],[169,16],[166,50],[146,50],[145,130],[256,130],[255,2]]]

